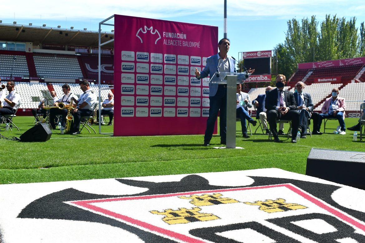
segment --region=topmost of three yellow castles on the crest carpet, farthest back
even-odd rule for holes
[[[192,199],[190,201],[191,204],[201,207],[201,206],[210,206],[210,205],[217,205],[217,204],[227,204],[227,203],[239,203],[239,201],[228,198],[228,197],[221,197],[222,194],[220,193],[213,193],[213,195],[204,194],[201,196],[192,195],[190,197],[181,196],[181,199]]]

